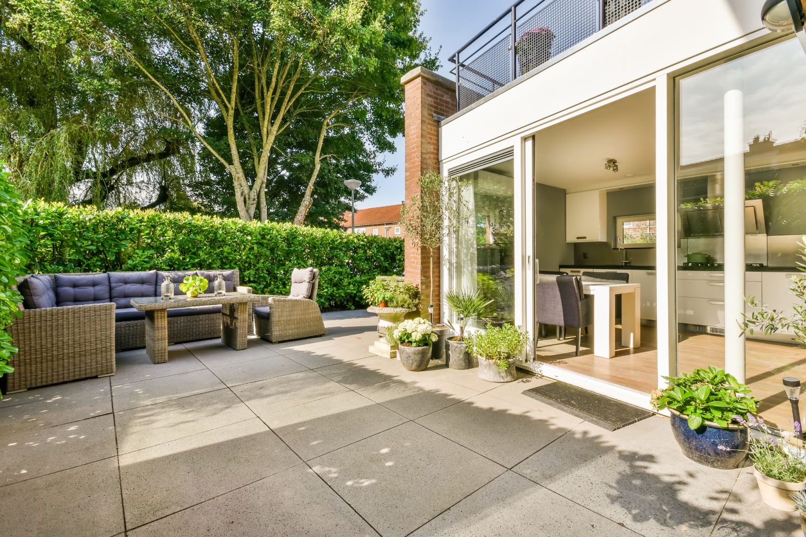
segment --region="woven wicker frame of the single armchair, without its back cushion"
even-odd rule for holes
[[[272,343],[325,335],[322,311],[316,303],[319,271],[315,269],[311,289],[309,298],[265,296],[254,311],[255,334]]]

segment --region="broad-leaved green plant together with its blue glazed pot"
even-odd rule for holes
[[[750,435],[736,417],[754,414],[759,403],[748,395],[750,388],[713,366],[663,378],[669,385],[654,390],[652,406],[669,409],[671,431],[683,454],[711,468],[738,468]]]

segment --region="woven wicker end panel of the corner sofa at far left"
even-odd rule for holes
[[[114,375],[114,303],[19,310],[23,316],[9,328],[19,348],[9,393]]]

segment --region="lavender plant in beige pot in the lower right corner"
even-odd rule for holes
[[[748,453],[763,502],[782,511],[797,510],[791,494],[806,490],[806,460],[792,456],[783,439],[773,437],[762,418],[753,414],[747,414],[746,419],[735,418],[747,430],[753,427],[762,431],[762,435],[750,435]],[[797,433],[800,424],[795,427]]]

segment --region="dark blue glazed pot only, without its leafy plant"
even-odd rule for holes
[[[705,422],[699,429],[688,427],[688,418],[671,412],[671,432],[683,450],[683,455],[689,459],[710,466],[732,470],[739,468],[747,458],[747,448],[750,436],[746,427],[737,425],[720,427],[716,423]],[[717,448],[723,446],[727,451]]]

